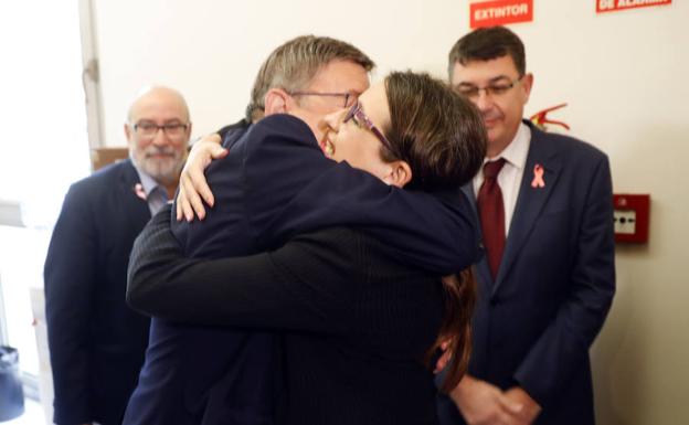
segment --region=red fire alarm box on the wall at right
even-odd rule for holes
[[[613,215],[615,242],[645,244],[648,242],[649,194],[614,194]]]

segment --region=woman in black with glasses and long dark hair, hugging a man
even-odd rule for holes
[[[328,157],[396,188],[458,189],[485,155],[478,111],[425,74],[392,73],[326,121]],[[400,425],[436,423],[441,341],[455,353],[443,389],[466,370],[475,287],[466,272],[431,276],[349,227],[190,259],[158,215],[135,244],[127,297],[168,319],[284,331],[277,423]]]

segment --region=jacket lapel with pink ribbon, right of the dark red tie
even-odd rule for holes
[[[505,244],[505,252],[498,269],[498,276],[492,286],[492,296],[510,273],[510,268],[521,253],[521,248],[529,238],[533,225],[543,211],[543,205],[552,193],[558,178],[560,177],[561,159],[558,152],[550,148],[544,138],[544,134],[529,125],[531,128],[531,144],[529,146],[529,155],[519,187],[519,195],[517,196],[517,205],[510,223],[509,234]],[[531,187],[534,178],[536,166],[543,168],[543,188]],[[490,275],[490,273],[488,273]]]

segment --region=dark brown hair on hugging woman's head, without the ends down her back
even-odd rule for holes
[[[428,74],[393,72],[385,78],[391,150],[412,169],[409,189],[459,188],[478,172],[486,156],[486,129],[471,102]]]

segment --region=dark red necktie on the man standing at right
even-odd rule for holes
[[[484,247],[494,279],[498,276],[498,267],[505,249],[505,205],[502,191],[498,184],[498,174],[502,166],[505,166],[504,158],[484,164],[484,184],[476,200],[484,233]]]

